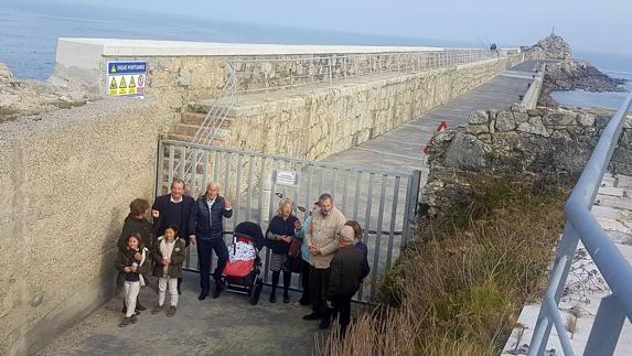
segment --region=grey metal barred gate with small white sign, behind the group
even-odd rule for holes
[[[194,197],[204,194],[208,182],[219,184],[219,194],[233,205],[233,217],[224,219],[225,239],[231,244],[232,230],[242,222],[255,222],[265,233],[281,198],[294,203],[294,213],[302,222],[320,194],[330,193],[345,217],[358,222],[364,229],[371,274],[355,300],[369,301],[377,292],[381,276],[413,235],[420,174],[420,171],[374,171],[161,140],[156,194],[167,194],[174,177],[183,179]],[[269,282],[270,252],[264,249],[261,257],[264,253],[264,281]],[[193,246],[188,249],[184,267],[197,270]],[[300,288],[297,276],[292,285]]]

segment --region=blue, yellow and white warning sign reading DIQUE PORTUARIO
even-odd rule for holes
[[[108,62],[107,91],[110,96],[143,96],[147,62]]]

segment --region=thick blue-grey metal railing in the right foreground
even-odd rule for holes
[[[590,212],[632,103],[628,96],[603,130],[566,203],[566,226],[533,333],[528,355],[543,355],[553,325],[565,355],[575,355],[558,303],[579,240],[612,291],[599,305],[583,355],[612,355],[625,317],[632,321],[632,267]]]

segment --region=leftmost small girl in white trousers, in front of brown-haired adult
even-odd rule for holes
[[[127,305],[125,317],[118,325],[120,327],[127,326],[129,323],[138,322],[135,314],[136,300],[138,299],[140,287],[144,285],[144,278],[142,276],[142,273],[146,272],[144,267],[149,265],[146,263],[149,256],[147,248],[142,244],[140,234],[129,235],[126,239],[126,251],[119,250],[116,261],[116,268],[122,274],[122,280],[125,281],[124,293]],[[137,259],[137,257],[140,257],[140,259]]]

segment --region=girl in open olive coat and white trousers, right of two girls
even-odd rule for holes
[[[169,226],[164,236],[158,238],[153,251],[156,265],[153,276],[158,277],[158,305],[151,311],[158,314],[164,304],[167,288],[171,295],[171,304],[167,310],[167,316],[175,314],[178,306],[178,279],[182,278],[182,262],[184,261],[184,241],[178,237],[178,228]]]

